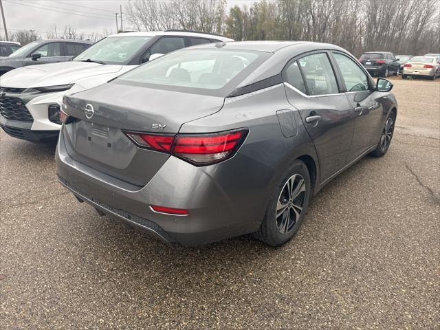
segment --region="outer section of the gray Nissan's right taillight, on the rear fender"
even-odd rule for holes
[[[215,134],[178,134],[175,137],[173,155],[195,165],[222,162],[234,155],[243,143],[248,130]]]

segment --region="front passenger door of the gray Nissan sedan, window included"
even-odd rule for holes
[[[369,76],[352,58],[340,52],[332,56],[344,84],[345,95],[355,112],[353,140],[347,155],[347,163],[363,155],[371,146],[377,144],[382,127],[382,102],[374,92]]]

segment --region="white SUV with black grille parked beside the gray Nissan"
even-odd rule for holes
[[[64,94],[106,83],[181,47],[217,41],[232,39],[181,31],[113,34],[72,61],[15,69],[0,77],[0,126],[9,135],[24,140],[58,137]]]

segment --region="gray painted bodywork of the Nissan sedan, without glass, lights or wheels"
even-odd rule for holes
[[[224,47],[248,49],[246,43]],[[307,51],[331,50],[353,58],[340,47],[319,43],[262,43],[260,47],[252,43],[252,47],[274,52],[267,62],[276,61],[263,63],[261,67],[267,67],[267,72],[257,68],[252,78],[245,78],[248,83],[281,74],[289,60]],[[363,115],[355,111],[353,100],[362,103]],[[65,102],[65,111],[81,121],[63,125],[61,130],[56,152],[60,181],[80,200],[103,212],[164,241],[184,245],[258,230],[283,170],[295,159],[308,164],[316,194],[332,177],[375,148],[386,115],[397,109],[391,93],[371,91],[366,96],[353,96],[341,90],[331,96],[310,97],[287,83],[228,98],[159,89],[152,93],[145,87],[109,83],[66,97]],[[87,121],[83,109],[90,102],[98,115]],[[371,107],[374,102],[377,104]],[[321,113],[322,120],[316,125],[305,124],[312,111]],[[117,132],[151,132],[150,125],[157,120],[167,125],[164,133],[210,133],[243,127],[249,133],[231,159],[197,167],[172,155],[141,150]],[[92,123],[102,125],[101,129],[118,128],[113,140],[117,151],[106,149],[107,140],[98,139],[102,151],[87,148],[87,133],[95,138]],[[159,214],[149,205],[184,208],[189,214]]]

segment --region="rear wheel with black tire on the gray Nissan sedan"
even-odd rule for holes
[[[304,190],[301,180],[303,180],[305,185]],[[289,182],[292,184],[289,185]],[[298,186],[298,188],[293,189],[294,193],[289,194],[289,186],[294,188]],[[296,192],[298,192],[298,195],[295,197]],[[292,239],[296,232],[298,232],[301,223],[303,223],[309,204],[310,192],[309,170],[304,162],[297,159],[285,170],[269,201],[260,229],[252,235],[256,239],[272,246],[283,245]],[[287,195],[291,197],[287,199]],[[277,207],[280,210],[278,217],[276,217]]]

